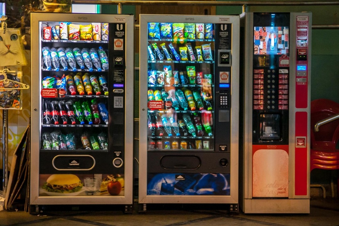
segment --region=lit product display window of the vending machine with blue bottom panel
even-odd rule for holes
[[[213,25],[148,23],[148,151],[212,151]]]

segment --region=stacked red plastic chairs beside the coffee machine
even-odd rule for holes
[[[336,149],[339,140],[339,119],[323,124],[319,131],[315,131],[317,122],[339,114],[339,104],[328,99],[311,101],[311,170],[339,169],[339,149]],[[332,197],[334,196],[331,183]],[[339,177],[337,182],[339,195]],[[325,197],[325,194],[324,194]]]

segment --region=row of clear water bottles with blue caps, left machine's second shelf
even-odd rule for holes
[[[64,49],[60,47],[56,49],[45,46],[42,48],[42,57],[47,70],[51,70],[53,66],[56,71],[59,71],[60,65],[64,70],[67,70],[67,63],[73,71],[77,70],[76,63],[80,69],[85,69],[86,66],[89,71],[93,71],[93,65],[98,71],[108,69],[107,55],[101,46],[99,49],[83,48],[81,51],[79,48]]]

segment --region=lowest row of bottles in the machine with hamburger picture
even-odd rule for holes
[[[80,136],[81,144],[77,145],[77,138],[74,133],[62,134],[60,130],[51,133],[42,133],[42,148],[45,150],[107,150],[107,135],[100,132],[97,136],[95,134],[89,135],[87,132]],[[80,147],[79,147],[80,146]],[[78,148],[77,148],[78,147]]]

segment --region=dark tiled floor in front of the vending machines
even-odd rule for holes
[[[137,209],[138,205],[135,205]],[[173,207],[173,206],[172,206]],[[333,225],[339,226],[339,199],[311,199],[310,214],[243,214],[229,213],[225,210],[210,209],[174,210],[164,205],[149,205],[146,213],[123,213],[120,210],[93,210],[91,208],[78,211],[48,210],[39,215],[27,212],[0,211],[0,225],[32,225],[32,226],[260,226],[260,225]],[[185,208],[185,206],[182,206]]]

